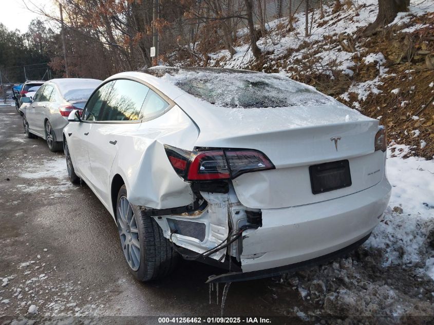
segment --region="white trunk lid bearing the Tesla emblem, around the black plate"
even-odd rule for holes
[[[251,208],[281,208],[330,200],[380,182],[383,152],[374,152],[379,122],[340,103],[307,107],[231,109],[191,98],[177,102],[200,129],[196,147],[262,151],[276,169],[233,180],[240,202]],[[197,100],[196,100],[197,101]],[[311,166],[348,165],[351,184],[314,194]],[[312,168],[311,168],[312,169]],[[339,177],[337,174],[331,176]],[[339,185],[339,184],[338,184]]]

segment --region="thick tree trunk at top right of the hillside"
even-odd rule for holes
[[[378,15],[375,21],[366,28],[365,34],[372,34],[379,27],[390,24],[398,12],[407,11],[409,5],[410,0],[378,0]]]

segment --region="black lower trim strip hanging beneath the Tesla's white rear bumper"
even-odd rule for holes
[[[319,256],[307,261],[298,262],[298,263],[285,265],[285,266],[274,267],[273,269],[267,269],[267,270],[259,270],[259,271],[246,272],[246,273],[230,272],[230,273],[225,273],[220,275],[211,275],[210,277],[208,277],[206,283],[224,283],[224,282],[240,282],[240,281],[247,281],[247,280],[255,280],[261,278],[268,278],[272,276],[278,276],[288,272],[296,272],[303,269],[307,269],[308,267],[312,267],[318,264],[324,264],[337,257],[341,257],[350,253],[351,251],[355,250],[358,246],[362,245],[366,240],[368,240],[369,236],[371,236],[371,233],[369,233],[367,236],[363,237],[362,239],[357,240],[355,243],[352,243],[347,247],[341,248],[336,252],[329,253],[324,256]]]

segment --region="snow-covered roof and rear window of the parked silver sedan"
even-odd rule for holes
[[[87,100],[93,90],[101,84],[98,79],[65,78],[52,79],[49,82],[58,86],[66,101]]]

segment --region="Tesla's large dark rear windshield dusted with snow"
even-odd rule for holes
[[[173,70],[172,70],[173,71]],[[291,79],[267,73],[225,69],[168,70],[163,79],[211,104],[267,108],[330,104],[330,98]]]

